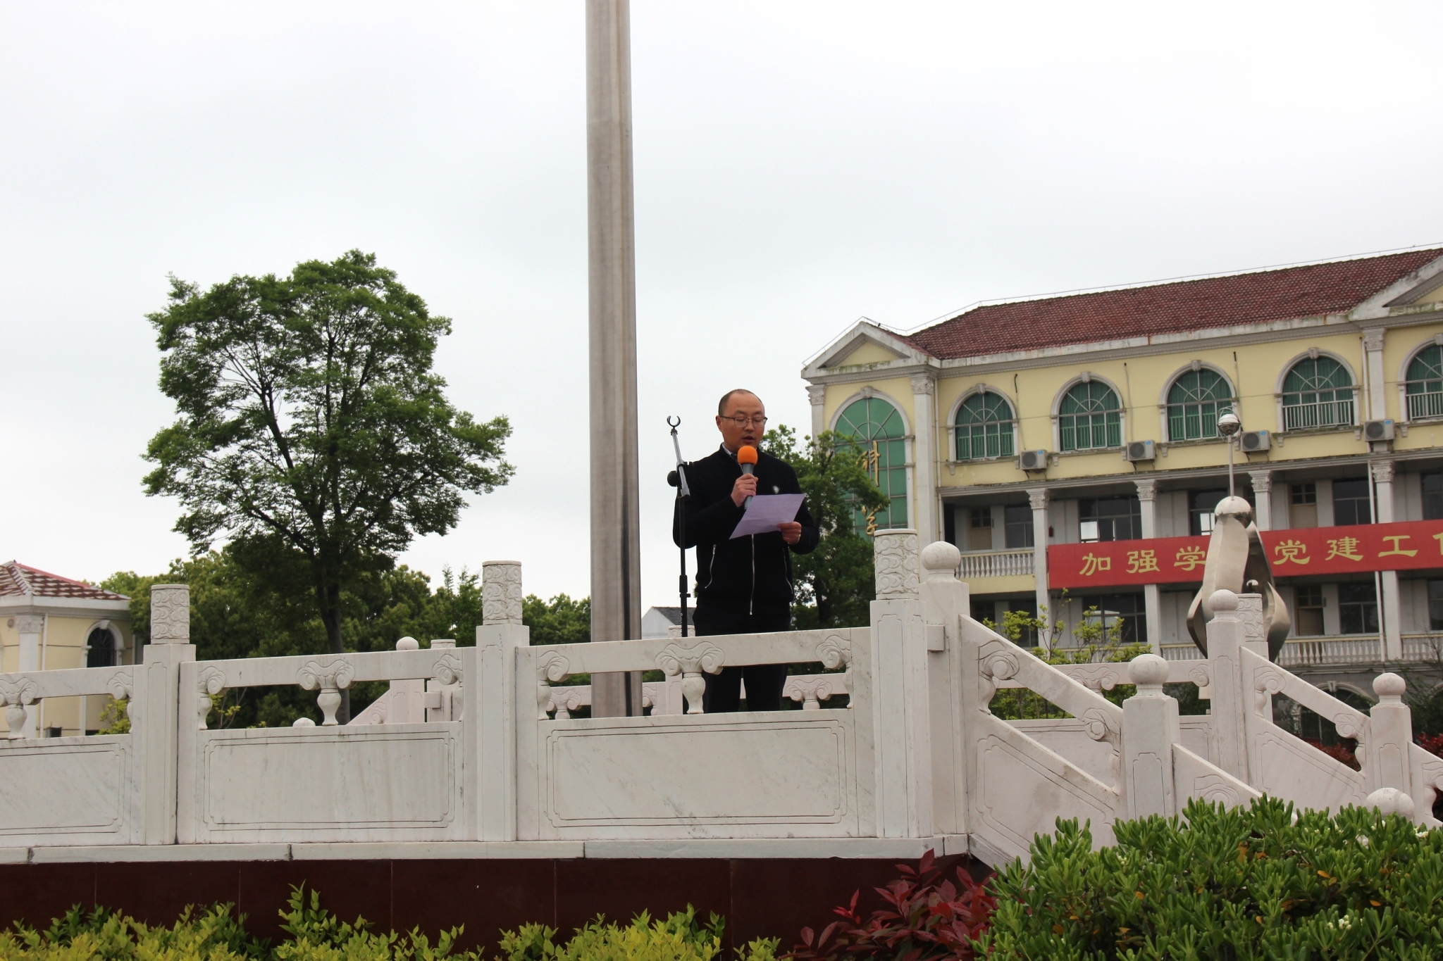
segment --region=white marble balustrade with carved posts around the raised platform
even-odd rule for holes
[[[1051,666],[971,620],[954,546],[919,552],[906,530],[880,532],[876,546],[864,628],[553,647],[530,644],[514,562],[483,568],[475,647],[403,638],[364,654],[196,661],[186,589],[157,585],[141,666],[0,674],[0,847],[319,844],[361,857],[375,844],[446,856],[495,843],[524,856],[583,843],[771,856],[908,840],[1001,863],[1058,817],[1089,820],[1105,843],[1117,818],[1261,791],[1436,824],[1443,761],[1411,743],[1403,680],[1381,674],[1365,713],[1270,663],[1255,595],[1214,598],[1205,658]],[[788,679],[804,710],[701,713],[704,674],[768,663],[827,673]],[[644,689],[649,715],[573,716],[590,690],[570,677],[648,670],[667,677]],[[336,723],[342,692],[361,681],[391,689]],[[1205,687],[1211,716],[1179,718],[1165,683]],[[1137,687],[1121,706],[1102,696],[1117,684]],[[312,692],[322,723],[206,726],[212,696],[268,686]],[[988,705],[1004,687],[1071,716],[1001,720]],[[27,706],[92,693],[128,697],[131,733],[25,736]],[[837,694],[846,706],[820,709]],[[1358,738],[1362,771],[1278,728],[1274,694]]]

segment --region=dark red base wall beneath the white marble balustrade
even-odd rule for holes
[[[939,862],[947,875],[967,857]],[[825,926],[831,908],[898,876],[893,860],[863,859],[584,859],[584,860],[333,860],[149,862],[6,864],[0,867],[0,924],[45,928],[71,905],[104,905],[147,924],[170,924],[188,903],[234,902],[245,926],[283,937],[277,912],[291,885],[320,890],[320,905],[378,929],[437,931],[465,925],[462,947],[496,945],[501,931],[540,921],[570,934],[597,913],[631,921],[641,911],[665,916],[688,903],[727,919],[727,941],[758,937],[797,942],[802,925]],[[727,945],[730,947],[730,945]]]

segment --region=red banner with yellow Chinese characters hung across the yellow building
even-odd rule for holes
[[[1273,576],[1443,568],[1443,520],[1264,530]],[[1202,581],[1208,537],[1107,540],[1048,547],[1048,586]]]

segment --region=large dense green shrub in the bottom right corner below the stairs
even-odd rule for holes
[[[1443,831],[1372,808],[1335,817],[1260,798],[1186,820],[1076,821],[997,875],[978,954],[1076,960],[1443,957]]]

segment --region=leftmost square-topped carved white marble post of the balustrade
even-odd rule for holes
[[[146,844],[176,841],[176,768],[180,743],[180,664],[195,660],[190,644],[190,588],[156,584],[150,588],[150,643],[136,670],[130,699],[131,748],[141,772]],[[202,692],[186,692],[189,712]],[[206,700],[209,707],[209,700]],[[205,718],[202,715],[201,720]]]

